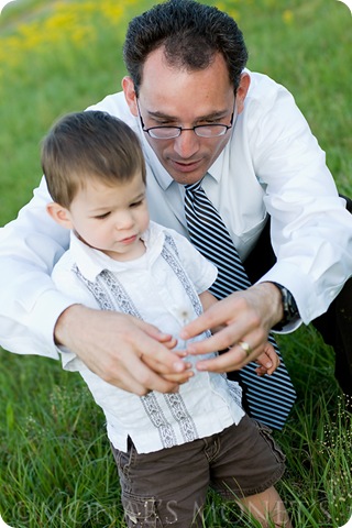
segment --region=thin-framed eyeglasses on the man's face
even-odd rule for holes
[[[193,130],[198,138],[219,138],[224,135],[228,130],[232,129],[233,118],[235,113],[235,107],[233,109],[230,124],[222,124],[222,123],[210,123],[210,124],[197,124],[196,127],[191,127],[190,129],[183,129],[182,127],[151,127],[148,129],[145,128],[139,101],[136,100],[136,106],[139,109],[139,116],[141,120],[141,125],[143,132],[146,132],[151,138],[154,140],[173,140],[178,138],[184,130]]]

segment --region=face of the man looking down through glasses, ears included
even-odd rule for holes
[[[138,107],[131,79],[123,81],[127,100],[134,116]],[[246,87],[248,88],[248,87]],[[245,94],[239,90],[237,109],[242,111]],[[245,90],[246,92],[246,90]],[[139,107],[146,129],[209,123],[230,124],[234,111],[233,87],[222,55],[208,68],[186,72],[170,67],[161,48],[151,53],[143,68]],[[160,162],[179,184],[200,180],[230,139],[230,130],[219,138],[199,138],[193,130],[172,140],[146,139]]]

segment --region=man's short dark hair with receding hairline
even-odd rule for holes
[[[189,72],[207,68],[215,54],[221,53],[237,91],[248,51],[242,32],[229,14],[195,0],[168,0],[135,16],[128,28],[123,58],[136,95],[144,63],[161,46],[170,66]]]

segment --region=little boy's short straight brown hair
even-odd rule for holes
[[[111,186],[138,173],[146,179],[136,134],[120,119],[100,111],[59,119],[42,142],[41,162],[53,200],[66,208],[91,178]]]

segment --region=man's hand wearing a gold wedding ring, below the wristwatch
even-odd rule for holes
[[[187,352],[198,355],[230,348],[218,358],[199,361],[197,369],[211,372],[238,371],[265,352],[268,332],[282,318],[279,290],[272,283],[262,283],[244,292],[235,292],[211,306],[187,324],[180,337],[187,340],[209,328],[223,326],[222,330],[209,339],[190,343]]]

